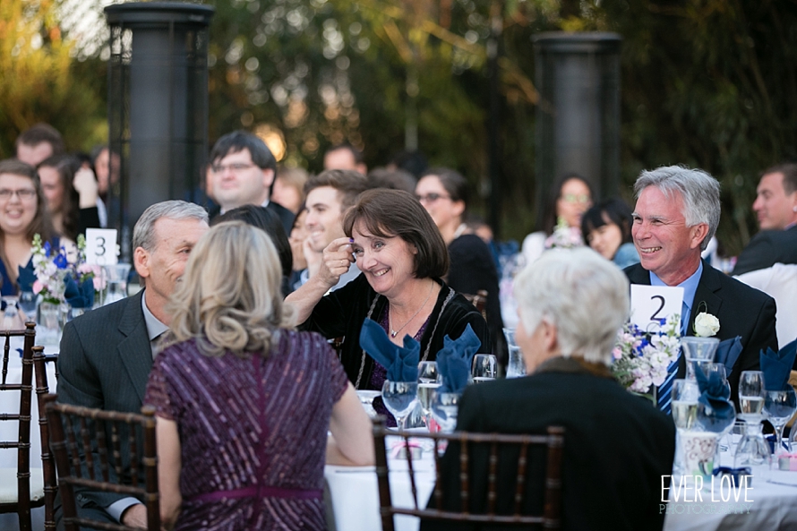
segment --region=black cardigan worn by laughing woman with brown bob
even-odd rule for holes
[[[429,316],[424,335],[421,336],[421,361],[424,359],[433,361],[443,347],[443,338],[447,335],[451,339],[458,338],[468,323],[482,342],[479,352],[492,352],[490,332],[481,313],[478,313],[465,297],[446,286],[440,279],[435,280],[442,288]],[[319,332],[326,338],[344,337],[340,361],[348,379],[357,389],[368,389],[371,381],[373,358],[363,354],[363,349],[360,347],[360,330],[376,296],[379,299],[373,306],[371,318],[378,322],[388,300],[384,296],[377,295],[365,276],[361,274],[346,286],[321,297],[321,301],[313,308],[310,318],[301,327],[303,330]]]

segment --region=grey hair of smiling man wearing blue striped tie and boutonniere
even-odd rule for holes
[[[719,201],[719,182],[702,169],[663,166],[639,174],[637,182],[634,183],[634,194],[637,199],[648,186],[656,186],[667,199],[673,199],[673,193],[681,194],[686,226],[694,227],[700,223],[708,225],[708,233],[700,242],[700,251],[705,251],[708,242],[716,234],[716,227],[719,227],[722,210]]]

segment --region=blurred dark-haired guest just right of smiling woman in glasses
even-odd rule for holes
[[[76,242],[78,235],[85,236],[87,228],[99,228],[94,172],[68,155],[46,158],[38,171],[47,210],[58,234]]]

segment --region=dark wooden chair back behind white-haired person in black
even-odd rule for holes
[[[561,426],[550,426],[545,435],[390,432],[390,435],[401,437],[406,444],[410,437],[433,441],[436,481],[430,507],[425,509],[418,507],[413,458],[409,451],[407,451],[407,473],[410,475],[410,485],[416,502],[410,508],[393,507],[389,481],[390,467],[385,448],[386,434],[384,417],[378,417],[373,421],[373,437],[381,521],[385,531],[394,529],[393,516],[396,514],[452,522],[500,524],[507,527],[539,526],[544,529],[561,527],[561,458],[564,440],[564,428]],[[448,445],[447,450],[458,451],[458,456],[442,457],[442,443]],[[534,447],[540,450],[539,454],[534,454],[535,459],[538,455],[542,459],[544,450],[544,463],[537,461],[544,465],[542,467],[531,467],[531,451]],[[443,468],[448,466],[457,467],[458,477],[442,476]],[[484,474],[486,482],[475,481],[474,474]],[[538,476],[529,477],[531,474]],[[531,480],[543,488],[530,491],[527,485]],[[514,489],[500,489],[499,484],[502,481],[515,481],[516,484],[512,485]],[[471,489],[481,489],[483,488],[481,485],[486,486],[486,492],[478,491],[479,496],[484,498],[474,498],[477,491],[471,492]],[[458,492],[449,492],[446,495],[450,489]],[[501,501],[499,492],[506,492],[501,496],[505,495],[508,499]],[[535,496],[535,499],[527,500],[529,495]],[[537,495],[541,499],[537,499]],[[446,507],[446,501],[455,502],[455,500],[459,501],[458,510]],[[530,506],[537,507],[538,512],[525,513],[527,509],[524,510],[524,507]],[[514,511],[513,514],[503,512],[510,508]],[[498,514],[499,511],[501,514]]]

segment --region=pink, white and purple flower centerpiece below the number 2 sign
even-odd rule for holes
[[[656,403],[656,387],[664,383],[667,369],[678,358],[680,323],[677,313],[662,319],[659,330],[642,330],[626,323],[618,332],[613,349],[612,373],[617,381]]]

